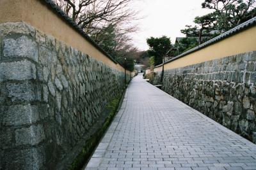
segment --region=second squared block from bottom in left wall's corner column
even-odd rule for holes
[[[31,125],[15,131],[16,145],[36,145],[45,139],[42,125]]]

